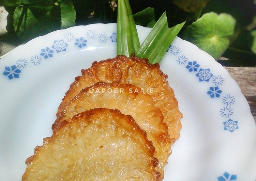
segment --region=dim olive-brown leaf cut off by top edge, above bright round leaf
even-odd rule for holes
[[[205,8],[209,0],[174,0],[173,3],[186,12],[197,12]]]

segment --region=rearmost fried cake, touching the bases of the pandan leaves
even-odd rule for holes
[[[160,70],[159,64],[150,64],[147,59],[140,59],[134,55],[129,58],[118,55],[114,59],[95,61],[90,68],[82,69],[81,72],[82,76],[76,77],[75,82],[70,85],[70,89],[66,92],[63,102],[59,106],[57,117],[71,99],[86,87],[97,82],[129,83],[152,91],[148,94],[153,98],[154,105],[164,115],[164,122],[168,126],[171,142],[174,143],[179,138],[182,114],[178,109],[174,92],[166,80],[167,75]]]

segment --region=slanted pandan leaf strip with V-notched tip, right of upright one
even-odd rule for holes
[[[141,44],[139,50],[136,52],[136,56],[148,58],[149,63],[159,63],[184,24],[185,22],[168,28],[166,12],[164,12]]]

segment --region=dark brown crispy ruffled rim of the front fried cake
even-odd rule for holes
[[[138,135],[140,135],[141,140],[143,141],[143,143],[141,143],[141,144],[146,145],[147,150],[148,150],[147,154],[151,158],[150,163],[152,164],[152,169],[153,169],[152,174],[154,175],[156,181],[160,180],[160,178],[161,178],[160,172],[158,172],[154,169],[154,167],[157,167],[157,165],[158,165],[158,160],[153,156],[154,151],[155,151],[155,147],[153,146],[152,142],[148,140],[146,131],[139,127],[139,125],[133,119],[132,116],[124,115],[118,109],[112,110],[112,109],[105,109],[105,108],[95,108],[95,109],[91,109],[89,111],[85,111],[85,112],[82,112],[82,113],[79,113],[79,114],[73,116],[73,118],[69,122],[67,122],[67,121],[61,122],[60,126],[53,131],[52,136],[43,138],[43,145],[42,146],[36,146],[34,148],[34,154],[25,161],[26,165],[29,165],[29,164],[33,163],[33,161],[36,159],[37,155],[39,154],[39,151],[41,149],[43,149],[44,145],[48,144],[51,141],[51,139],[54,139],[59,134],[60,130],[63,127],[65,127],[66,125],[72,124],[73,122],[85,121],[85,119],[88,118],[91,115],[98,114],[98,113],[102,114],[104,112],[110,112],[111,115],[115,114],[116,116],[121,117],[121,119],[120,119],[121,121],[119,121],[119,125],[124,127],[124,124],[123,124],[122,121],[125,120],[126,124],[129,125],[129,126],[127,126],[127,128],[129,128],[129,129],[133,128],[133,130],[135,130],[136,133]],[[91,122],[89,120],[90,119],[87,119],[86,122]],[[24,180],[24,177],[26,176],[26,171],[27,171],[27,169],[25,170],[25,172],[22,176],[22,180]]]

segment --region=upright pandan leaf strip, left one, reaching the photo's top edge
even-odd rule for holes
[[[139,48],[139,36],[129,0],[118,1],[117,54],[130,56]]]

